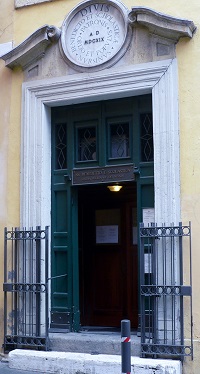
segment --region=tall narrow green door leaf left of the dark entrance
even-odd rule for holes
[[[53,208],[57,214],[52,232],[51,327],[57,326],[57,320],[61,321],[63,327],[64,325],[67,327],[72,318],[72,253],[71,238],[68,235],[70,201],[70,190],[66,188],[65,184],[55,184]]]

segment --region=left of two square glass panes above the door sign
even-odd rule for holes
[[[96,160],[96,127],[81,127],[78,131],[78,160]]]

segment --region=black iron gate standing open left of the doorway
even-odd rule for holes
[[[4,230],[4,351],[48,349],[48,227]]]

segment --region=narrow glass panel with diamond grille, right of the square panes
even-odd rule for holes
[[[153,121],[152,113],[140,115],[141,161],[153,161]]]

